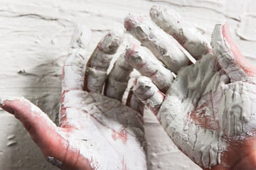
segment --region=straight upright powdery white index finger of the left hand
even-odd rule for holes
[[[90,42],[91,31],[87,26],[78,26],[71,41],[69,55],[63,66],[62,90],[82,90],[86,47]]]

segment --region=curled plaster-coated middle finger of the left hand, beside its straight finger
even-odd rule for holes
[[[107,69],[117,48],[122,43],[122,31],[110,30],[98,43],[92,53],[85,69],[84,90],[97,93],[102,92],[102,87],[107,79]]]

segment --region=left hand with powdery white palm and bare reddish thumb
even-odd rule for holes
[[[113,68],[119,74],[110,72],[107,79],[122,36],[110,31],[92,53],[84,73],[90,30],[76,30],[63,67],[60,127],[25,98],[1,98],[1,108],[23,123],[48,162],[60,169],[146,169],[142,106],[132,94],[127,106],[117,100],[132,70],[124,57]],[[105,94],[112,98],[101,94],[106,79]]]

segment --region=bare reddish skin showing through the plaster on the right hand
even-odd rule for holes
[[[223,37],[228,41],[231,52],[235,56],[235,62],[247,73],[248,77],[255,77],[256,68],[252,66],[245,57],[238,50],[237,45],[233,42],[230,36],[230,30],[228,24],[223,25]],[[249,80],[248,80],[249,81]],[[247,81],[245,81],[247,82]],[[253,83],[253,82],[250,82]],[[206,103],[206,106],[208,104]],[[202,106],[203,107],[203,106]],[[197,109],[197,108],[196,108]],[[158,112],[155,109],[154,113]],[[191,113],[192,118],[197,125],[210,130],[218,130],[218,123],[213,123],[213,120],[208,117],[196,116],[196,111]],[[230,140],[227,136],[224,136],[228,142],[228,148],[221,154],[221,164],[211,167],[213,170],[250,170],[256,169],[256,132],[252,131],[252,137],[246,136],[244,140]],[[202,169],[205,169],[201,167]]]

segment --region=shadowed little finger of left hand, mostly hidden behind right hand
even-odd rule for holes
[[[144,113],[144,103],[142,103],[142,101],[140,101],[139,98],[137,98],[132,89],[129,91],[126,106],[133,108],[141,115],[143,115]]]

